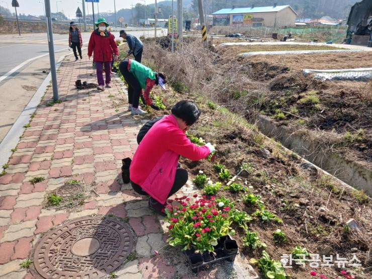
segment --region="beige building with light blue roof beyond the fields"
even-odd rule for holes
[[[294,27],[297,13],[290,5],[221,9],[213,13],[214,26]]]

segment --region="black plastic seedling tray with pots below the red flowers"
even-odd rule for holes
[[[208,251],[203,254],[195,253],[194,248],[186,250],[185,255],[189,260],[193,272],[199,272],[203,267],[210,267],[216,262],[223,260],[234,262],[238,251],[236,240],[227,235],[218,240],[218,244],[215,246],[216,255]]]

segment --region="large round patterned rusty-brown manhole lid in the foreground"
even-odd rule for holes
[[[118,268],[132,250],[126,224],[112,218],[81,218],[46,234],[34,265],[42,278],[101,278]]]

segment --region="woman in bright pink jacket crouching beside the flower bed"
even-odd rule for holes
[[[150,128],[133,156],[129,172],[132,187],[141,195],[149,195],[149,207],[160,214],[164,214],[166,199],[188,180],[187,170],[177,168],[179,156],[197,161],[215,150],[211,143],[198,146],[185,135],[199,116],[193,102],[178,102],[170,115]]]

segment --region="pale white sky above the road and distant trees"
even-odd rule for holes
[[[82,11],[82,5],[81,1],[76,0],[61,0],[58,1],[58,12],[63,11],[65,15],[68,18],[74,18],[75,12],[77,7],[80,8]],[[85,0],[84,0],[85,1]],[[159,1],[159,0],[158,0]],[[17,12],[22,14],[30,14],[34,16],[44,15],[43,11],[43,5],[39,2],[44,2],[44,0],[18,0],[18,3],[20,5],[19,8],[17,8]],[[53,13],[57,12],[57,1],[56,0],[50,0],[50,8]],[[139,0],[115,0],[116,3],[116,11],[119,11],[120,9],[129,9],[130,6],[136,5],[137,3],[144,4],[143,1]],[[155,3],[155,0],[146,0],[146,5]],[[12,0],[0,0],[0,6],[3,6],[5,8],[7,7],[7,4],[9,6],[9,10],[11,12],[15,12],[14,8],[12,8]],[[97,3],[95,5],[95,13],[97,13]],[[100,12],[114,12],[114,0],[100,0],[99,10]],[[89,11],[89,14],[91,14],[91,3],[85,3],[85,12],[87,13],[87,10]]]

